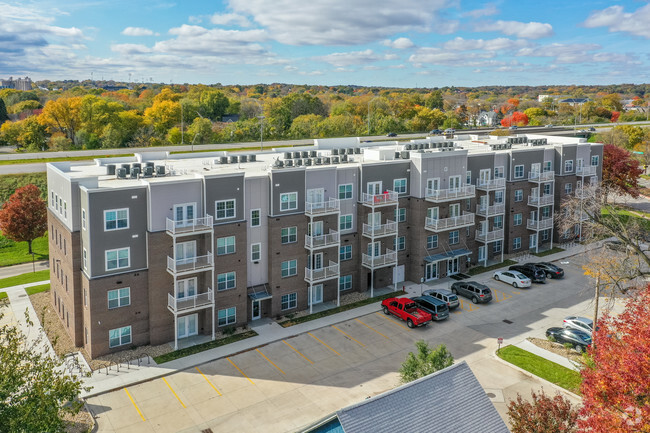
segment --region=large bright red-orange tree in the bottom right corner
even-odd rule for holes
[[[578,426],[588,433],[650,432],[650,286],[598,321],[582,370]]]

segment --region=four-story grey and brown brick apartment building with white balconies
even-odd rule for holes
[[[444,278],[573,236],[554,214],[601,159],[468,135],[50,163],[52,303],[95,357]]]

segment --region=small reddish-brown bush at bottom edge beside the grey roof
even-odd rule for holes
[[[532,391],[532,403],[517,394],[508,403],[512,433],[574,433],[578,431],[578,409],[560,394],[550,397]]]

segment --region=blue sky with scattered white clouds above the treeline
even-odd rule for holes
[[[647,0],[0,0],[0,78],[586,85],[649,66]]]

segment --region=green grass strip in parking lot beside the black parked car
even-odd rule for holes
[[[527,352],[515,346],[506,346],[497,355],[499,358],[522,368],[535,376],[546,379],[573,393],[580,393],[582,377],[577,371],[568,369],[548,359]]]

